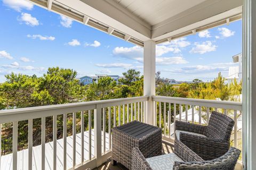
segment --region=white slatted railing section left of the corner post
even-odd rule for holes
[[[52,106],[39,106],[31,108],[20,108],[20,109],[10,109],[5,111],[0,111],[0,124],[12,123],[13,130],[13,150],[12,150],[12,159],[9,165],[3,165],[4,163],[0,159],[1,169],[86,169],[86,168],[95,168],[102,163],[106,162],[107,158],[111,154],[111,137],[108,137],[111,134],[111,128],[116,125],[121,125],[132,120],[138,120],[145,122],[145,103],[148,100],[148,96],[143,97],[134,97],[134,98],[122,98],[122,99],[111,99],[111,100],[101,100],[101,101],[90,101],[82,103],[72,103],[72,104],[62,104],[62,105],[52,105]],[[106,112],[107,116],[106,117]],[[67,153],[67,114],[73,114],[73,135],[68,137],[68,140],[72,139],[73,144],[71,153]],[[76,114],[88,114],[88,127],[89,132],[86,135],[88,136],[88,146],[84,146],[84,116],[81,116],[81,135],[76,133]],[[92,135],[92,114],[94,115],[93,121],[93,134]],[[63,140],[61,145],[59,140],[57,140],[57,116],[63,115]],[[53,161],[52,165],[47,165],[46,168],[46,143],[45,143],[45,118],[53,116]],[[113,117],[112,117],[113,116]],[[36,155],[36,157],[41,157],[41,167],[37,167],[35,164],[35,151],[33,150],[33,119],[41,118],[42,119],[42,137],[41,137],[41,156]],[[23,160],[18,159],[18,123],[19,121],[28,120],[28,154],[27,158]],[[106,122],[108,120],[108,122]],[[113,123],[112,123],[113,122]],[[106,129],[106,124],[108,125],[108,130]],[[0,129],[1,130],[1,129]],[[2,132],[2,131],[1,131]],[[106,132],[107,137],[106,137]],[[103,134],[102,134],[103,133]],[[81,138],[78,138],[80,137]],[[86,137],[87,137],[86,136]],[[94,139],[92,139],[94,137]],[[103,138],[103,139],[101,139]],[[77,141],[81,140],[81,141]],[[108,141],[106,141],[108,140]],[[1,141],[1,133],[0,133]],[[92,141],[94,141],[94,153],[92,153]],[[51,142],[50,142],[51,143]],[[79,145],[77,145],[79,143]],[[107,143],[107,147],[106,147]],[[50,147],[47,143],[47,147]],[[59,147],[60,146],[60,147]],[[81,147],[81,149],[76,148]],[[0,142],[1,148],[1,142]],[[57,151],[60,149],[61,151]],[[68,146],[70,148],[70,146]],[[107,149],[106,149],[107,148]],[[84,150],[88,150],[85,159]],[[61,154],[59,154],[61,152]],[[1,152],[0,152],[1,153]],[[57,154],[58,153],[58,154]],[[67,166],[67,154],[71,157],[71,167]],[[62,158],[60,157],[62,155]],[[92,157],[93,156],[93,157]],[[2,156],[4,157],[4,156]],[[1,158],[1,155],[0,155]],[[80,158],[81,160],[77,160]],[[61,160],[59,160],[61,159]],[[70,160],[69,159],[69,160]],[[22,163],[20,163],[22,161]],[[61,164],[60,166],[57,166]],[[21,165],[22,164],[22,165]],[[49,162],[47,162],[49,164]],[[11,166],[12,165],[12,166]],[[70,164],[69,164],[70,165]],[[9,166],[7,168],[7,166]],[[26,167],[25,167],[26,166]]]

